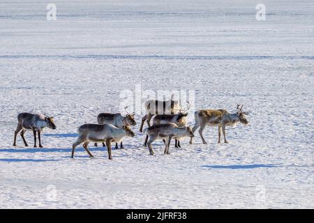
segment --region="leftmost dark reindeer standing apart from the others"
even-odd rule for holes
[[[21,137],[23,139],[24,145],[29,146],[27,144],[27,141],[24,138],[24,133],[27,130],[33,130],[33,141],[34,141],[33,148],[37,148],[36,132],[38,133],[39,147],[43,148],[43,145],[41,144],[41,141],[40,141],[40,132],[43,132],[45,127],[52,128],[53,130],[55,130],[57,128],[56,125],[54,125],[54,118],[53,117],[48,117],[45,114],[44,115],[31,114],[31,113],[27,113],[27,112],[20,113],[17,116],[17,128],[14,132],[13,146],[16,146],[16,136],[17,136],[17,133],[20,132],[20,130],[22,130]]]

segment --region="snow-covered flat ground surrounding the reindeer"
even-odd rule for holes
[[[311,0],[0,1],[0,207],[314,208],[313,12]],[[170,155],[156,141],[153,157],[137,114],[113,160],[93,146],[96,158],[80,146],[70,159],[77,127],[119,112],[136,85],[194,91],[195,109],[243,103],[250,123],[228,128],[229,144],[216,128]],[[20,112],[54,116],[43,149],[29,131],[13,148]]]

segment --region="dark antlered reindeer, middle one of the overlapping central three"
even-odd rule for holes
[[[187,120],[186,116],[188,116],[188,109],[190,109],[190,102],[186,101],[188,103],[188,108],[185,111],[182,111],[180,108],[178,114],[156,114],[153,117],[153,125],[159,125],[159,124],[166,124],[166,123],[174,123],[178,125],[179,127],[183,127],[186,125]],[[144,146],[147,146],[147,140],[148,135],[146,136]],[[163,142],[165,143],[165,139],[163,139]],[[181,148],[180,141],[175,139],[175,148]]]

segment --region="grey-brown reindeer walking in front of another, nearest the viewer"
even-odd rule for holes
[[[76,146],[83,144],[83,147],[85,151],[89,154],[89,157],[94,157],[91,152],[89,151],[89,148],[87,146],[89,145],[89,142],[104,142],[107,146],[108,151],[108,158],[109,160],[112,160],[111,155],[111,143],[113,141],[120,142],[122,141],[123,137],[134,137],[135,133],[131,130],[130,126],[123,125],[122,128],[117,128],[114,125],[111,124],[84,124],[81,125],[78,129],[78,138],[77,141],[72,146],[72,158],[74,157],[74,151]]]

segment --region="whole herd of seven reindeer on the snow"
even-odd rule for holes
[[[165,144],[165,154],[169,153],[170,141],[175,139],[175,147],[181,147],[180,140],[186,137],[190,138],[190,144],[193,144],[194,132],[197,128],[200,128],[198,132],[202,139],[203,144],[207,144],[203,137],[203,130],[206,126],[218,127],[218,143],[220,143],[221,132],[225,143],[227,143],[225,128],[227,125],[234,127],[237,123],[248,124],[246,119],[247,112],[243,112],[243,105],[237,104],[237,112],[229,113],[225,109],[200,109],[195,112],[195,126],[190,128],[187,126],[188,109],[190,109],[190,103],[188,108],[183,110],[179,101],[173,100],[148,100],[144,103],[145,116],[142,118],[140,125],[140,132],[146,134],[144,146],[148,148],[149,154],[154,155],[154,150],[151,144],[156,139],[162,139]],[[135,137],[135,133],[131,129],[131,126],[135,126],[135,114],[130,114],[127,111],[128,107],[125,107],[126,116],[120,113],[100,113],[97,116],[98,124],[87,123],[77,128],[78,137],[77,141],[73,143],[72,155],[74,157],[75,148],[83,144],[83,148],[87,151],[89,157],[94,157],[89,151],[88,145],[90,142],[102,143],[103,147],[107,147],[108,158],[112,160],[111,144],[115,143],[115,148],[124,148],[122,139],[124,137]],[[152,119],[152,125],[151,125]],[[147,121],[148,128],[144,127],[144,122]],[[14,132],[13,146],[16,146],[16,137],[18,132],[25,146],[27,141],[24,138],[24,133],[27,130],[33,131],[34,148],[36,144],[36,134],[38,135],[39,147],[43,148],[40,141],[40,132],[43,132],[44,128],[56,129],[54,124],[54,118],[40,114],[21,113],[17,116],[17,128]]]

